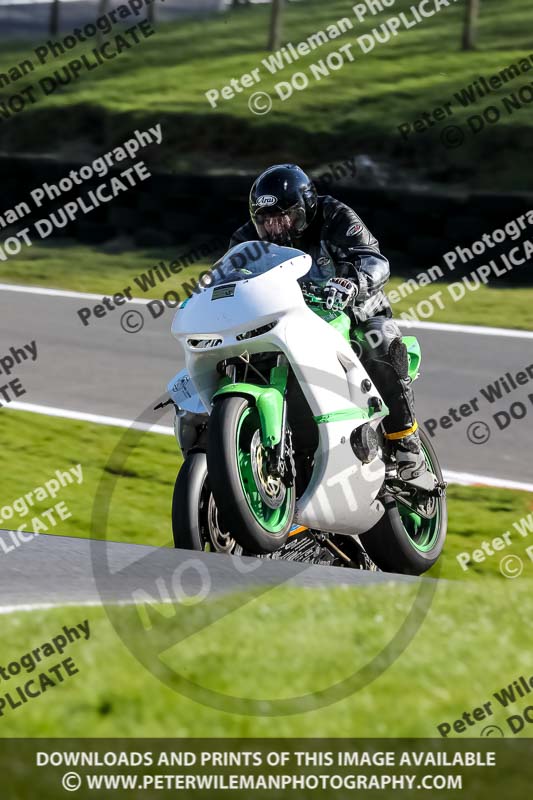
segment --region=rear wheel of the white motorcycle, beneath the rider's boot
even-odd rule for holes
[[[443,482],[437,455],[425,431],[420,431],[422,449],[428,469]],[[421,575],[439,558],[448,526],[446,495],[435,499],[436,513],[425,519],[410,510],[392,495],[383,498],[385,514],[360,540],[366,552],[384,572]]]

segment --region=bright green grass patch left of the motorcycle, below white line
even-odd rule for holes
[[[52,419],[9,408],[0,413],[0,442],[6,458],[2,506],[43,486],[56,470],[67,471],[76,464],[83,467],[81,486],[71,484],[55,500],[37,502],[29,514],[2,520],[4,527],[16,529],[24,525],[32,530],[33,517],[41,518],[43,511],[63,501],[72,516],[42,533],[106,538],[107,530],[107,538],[114,541],[171,546],[170,506],[181,463],[173,437],[137,436],[121,428]],[[126,449],[128,457],[120,467],[122,474],[115,487],[120,458],[116,451],[120,446],[118,452]],[[101,516],[92,521],[98,492],[105,489],[112,494],[106,530]],[[104,501],[102,494],[98,497],[101,513]]]

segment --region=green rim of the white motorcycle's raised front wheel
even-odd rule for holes
[[[254,406],[247,408],[237,425],[237,467],[243,494],[256,521],[269,533],[279,533],[289,520],[292,501],[292,488],[287,488],[285,499],[279,508],[270,508],[262,499],[252,470],[250,452],[251,436],[245,434],[245,423],[253,429],[259,427],[259,415]]]

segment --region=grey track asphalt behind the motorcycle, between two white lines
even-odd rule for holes
[[[122,287],[117,287],[119,291]],[[29,294],[0,288],[0,357],[11,346],[37,342],[37,360],[18,366],[0,384],[18,377],[26,389],[22,403],[70,409],[92,414],[137,419],[165,395],[168,381],[182,368],[177,342],[170,334],[174,310],[154,319],[146,305],[127,304],[84,327],[77,311],[94,306],[96,299]],[[123,314],[142,314],[137,333],[122,329]],[[140,320],[139,317],[137,317]],[[443,468],[494,478],[533,482],[531,415],[533,381],[490,404],[480,389],[509,372],[533,363],[532,339],[492,336],[451,329],[429,330],[409,326],[422,346],[421,377],[415,384],[417,416],[427,430],[430,418],[450,416],[451,408],[478,399],[479,412],[460,421],[445,421],[431,439]],[[531,336],[531,335],[530,335]],[[531,398],[529,395],[532,395]],[[499,430],[497,411],[522,402],[524,419]],[[0,411],[1,413],[1,411]],[[172,425],[172,412],[154,421]],[[482,421],[490,438],[483,444],[469,440],[469,426]],[[470,432],[471,439],[472,431]]]

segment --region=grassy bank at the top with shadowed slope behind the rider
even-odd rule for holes
[[[376,158],[407,159],[435,180],[467,180],[471,185],[494,189],[529,189],[521,158],[531,152],[527,128],[531,107],[512,114],[502,112],[497,125],[487,125],[478,135],[465,127],[465,144],[446,150],[440,133],[446,123],[403,141],[398,126],[425,111],[442,106],[455,92],[479,76],[499,72],[531,52],[528,28],[523,24],[528,0],[509,0],[505,16],[497,0],[483,4],[479,26],[479,50],[459,50],[463,8],[460,3],[378,44],[364,55],[356,38],[379,27],[393,14],[409,13],[410,0],[393,10],[369,17],[362,23],[344,0],[319,0],[290,4],[286,8],[284,42],[298,44],[343,17],[354,23],[334,39],[297,63],[271,75],[265,58],[268,7],[252,7],[208,20],[180,21],[159,26],[156,35],[107,62],[105,67],[84,71],[77,80],[46,97],[37,91],[37,102],[17,116],[0,123],[0,140],[11,152],[55,152],[84,157],[120,143],[134,127],[162,123],[164,143],[154,152],[155,161],[180,169],[195,167],[227,170],[237,164],[265,166],[298,160],[319,166],[332,154],[370,153]],[[275,91],[280,81],[296,71],[310,74],[312,64],[344,44],[352,44],[353,63],[346,63],[320,81],[311,79],[305,91],[295,91],[282,102]],[[32,44],[13,42],[3,48],[2,69],[32,53]],[[89,50],[89,48],[85,48]],[[70,51],[50,61],[8,88],[38,81],[84,52]],[[435,54],[438,53],[438,58]],[[232,78],[259,67],[261,82],[213,109],[205,93],[221,89]],[[29,80],[31,78],[31,81]],[[528,73],[504,84],[489,98],[478,98],[469,108],[453,100],[453,124],[465,125],[468,117],[487,105],[498,105],[504,96],[528,84]],[[248,100],[257,90],[274,98],[272,113],[250,113]],[[58,115],[68,113],[68,130],[58,137]],[[82,141],[84,144],[82,144]],[[504,150],[506,152],[504,152]],[[507,153],[513,152],[513,158]],[[480,170],[480,159],[483,169]]]

